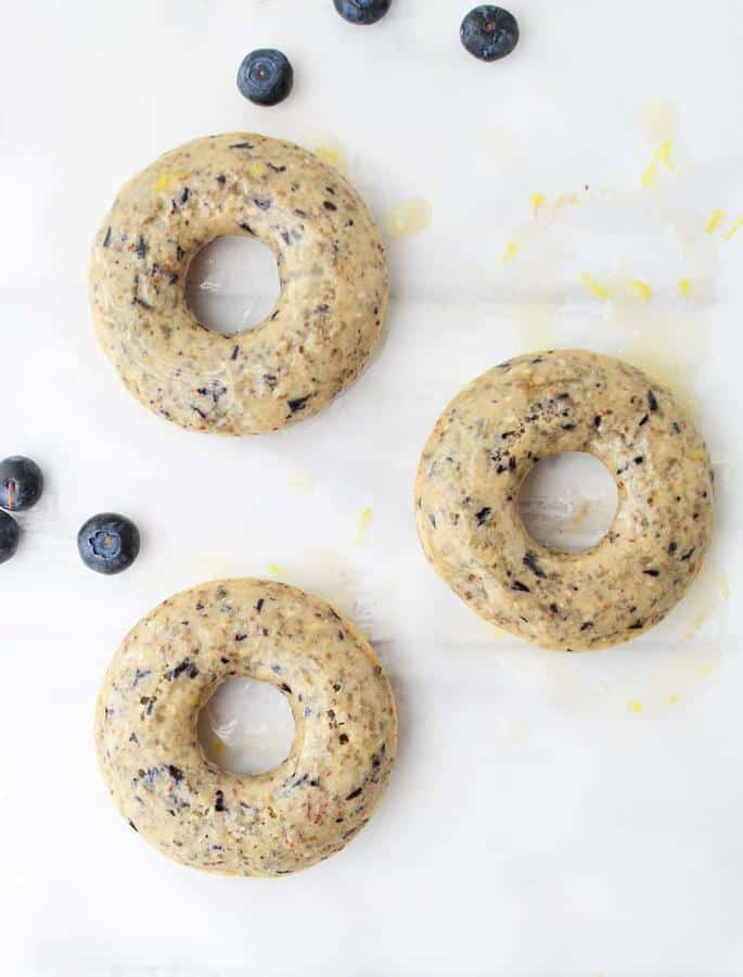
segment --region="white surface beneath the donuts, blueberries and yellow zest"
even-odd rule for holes
[[[460,48],[467,7],[395,0],[360,28],[330,0],[0,0],[0,456],[30,455],[48,479],[0,568],[4,974],[743,973],[743,232],[726,240],[743,214],[740,5],[522,0],[522,42],[491,65]],[[297,78],[273,110],[234,85],[266,45]],[[121,182],[234,129],[343,148],[382,225],[409,198],[432,210],[388,242],[389,337],[370,371],[318,418],[249,441],[138,406],[94,344],[85,281]],[[592,656],[496,634],[415,540],[438,413],[542,343],[671,381],[718,474],[704,576],[652,634]],[[119,578],[75,548],[101,509],[142,529]],[[209,877],[120,821],[93,705],[151,607],[269,563],[374,640],[399,762],[342,854],[280,880]]]

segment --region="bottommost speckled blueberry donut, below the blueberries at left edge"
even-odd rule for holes
[[[206,760],[198,710],[232,675],[289,699],[289,757],[257,776]],[[369,821],[397,750],[389,681],[371,646],[295,587],[226,580],[148,614],[112,661],[95,714],[98,759],[130,826],[183,865],[287,875],[340,851]]]

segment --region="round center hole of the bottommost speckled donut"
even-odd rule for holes
[[[273,770],[292,749],[289,699],[268,682],[227,678],[198,713],[198,741],[212,763],[233,774]]]

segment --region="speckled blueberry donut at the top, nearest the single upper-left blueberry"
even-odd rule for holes
[[[188,308],[195,253],[254,234],[281,293],[255,329],[225,337]],[[317,414],[374,351],[387,270],[369,210],[312,153],[244,132],[188,142],[116,198],[92,248],[98,339],[155,414],[194,431],[257,434]]]

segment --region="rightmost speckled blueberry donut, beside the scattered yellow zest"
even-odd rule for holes
[[[615,477],[614,522],[592,548],[539,545],[518,493],[540,458],[588,452]],[[439,417],[415,484],[418,533],[473,610],[543,648],[635,638],[681,599],[713,523],[701,434],[641,370],[579,350],[520,356],[478,377]]]

